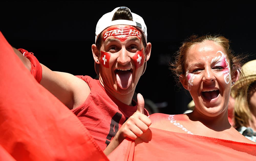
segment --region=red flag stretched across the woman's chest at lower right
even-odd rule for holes
[[[110,160],[256,160],[256,145],[150,128],[147,143],[124,140]]]

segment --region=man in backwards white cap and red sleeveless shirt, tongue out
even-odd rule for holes
[[[151,43],[143,18],[129,8],[117,7],[97,23],[92,54],[98,79],[51,71],[33,53],[14,50],[24,55],[17,53],[36,80],[76,114],[102,150],[115,135],[113,148],[125,137],[136,139],[148,130],[151,120],[143,97],[137,95],[138,103],[132,97]]]

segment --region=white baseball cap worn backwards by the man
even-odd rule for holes
[[[130,21],[130,20],[122,20],[122,19],[119,19],[119,20],[114,20],[112,21],[112,18],[114,16],[114,13],[119,9],[119,8],[122,8],[122,9],[126,9],[126,10],[129,10],[131,12],[131,10],[127,7],[116,7],[114,10],[112,10],[111,12],[109,13],[106,13],[104,14],[98,21],[97,25],[96,25],[96,30],[95,30],[95,43],[100,35],[100,33],[105,30],[106,28],[110,27],[110,26],[113,26],[113,25],[131,25],[131,26],[134,26],[136,27],[137,29],[139,29],[144,38],[145,38],[145,41],[147,43],[147,27],[146,27],[146,24],[143,20],[143,18],[135,13],[132,13],[132,18],[133,18],[133,21]],[[145,72],[145,69],[146,69],[146,63],[145,62],[145,66],[144,66],[144,71],[143,73]],[[99,64],[96,64],[94,63],[94,68],[95,68],[95,72],[99,75]],[[143,74],[142,73],[142,74]]]

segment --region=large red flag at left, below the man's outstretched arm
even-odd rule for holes
[[[42,87],[0,32],[0,160],[108,160],[80,120]]]

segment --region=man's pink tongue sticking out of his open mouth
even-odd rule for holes
[[[116,80],[121,89],[127,89],[132,82],[132,73],[130,71],[119,71],[116,73]]]

